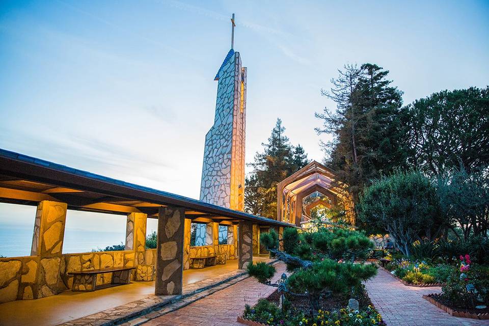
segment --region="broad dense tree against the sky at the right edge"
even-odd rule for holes
[[[433,93],[402,111],[416,168],[441,175],[489,166],[489,87]]]

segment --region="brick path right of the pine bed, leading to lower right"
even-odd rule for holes
[[[489,320],[452,317],[423,299],[423,294],[440,293],[439,286],[405,286],[383,269],[365,283],[373,305],[388,326],[475,326]]]

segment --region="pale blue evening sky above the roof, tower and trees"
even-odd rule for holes
[[[198,198],[233,12],[247,161],[277,117],[322,159],[314,112],[344,64],[389,69],[405,103],[489,80],[488,1],[3,0],[0,147]]]

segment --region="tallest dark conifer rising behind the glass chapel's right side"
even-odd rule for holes
[[[323,143],[329,154],[325,163],[350,186],[354,200],[370,179],[406,164],[402,92],[390,86],[388,73],[374,64],[346,65],[331,80],[331,91],[321,91],[337,106],[335,112],[316,113],[323,123],[316,132],[334,136]]]

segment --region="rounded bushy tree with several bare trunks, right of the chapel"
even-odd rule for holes
[[[358,219],[385,228],[408,257],[415,240],[430,241],[447,225],[436,188],[417,171],[396,171],[375,180],[357,206]]]

